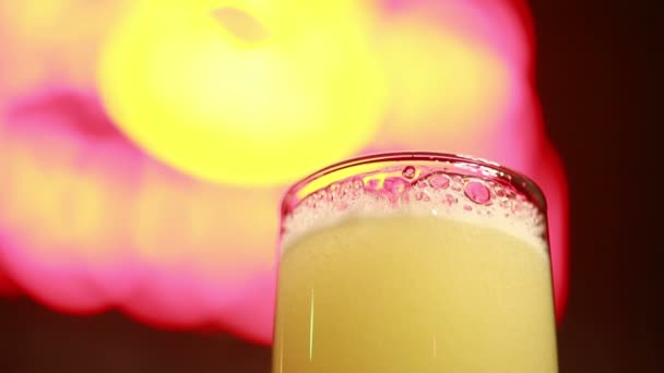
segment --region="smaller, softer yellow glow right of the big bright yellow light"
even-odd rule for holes
[[[388,141],[476,136],[505,109],[509,70],[488,48],[414,13],[384,27],[381,59],[390,80]]]

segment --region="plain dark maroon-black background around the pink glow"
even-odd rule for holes
[[[664,196],[654,165],[659,88],[653,4],[530,1],[537,89],[571,189],[571,292],[560,372],[664,372],[656,274]],[[649,234],[650,233],[650,234]],[[117,313],[74,317],[0,299],[0,373],[269,372],[270,350],[155,330]]]

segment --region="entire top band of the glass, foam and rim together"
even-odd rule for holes
[[[331,166],[296,184],[282,214],[282,250],[344,219],[394,215],[487,226],[548,250],[540,189],[505,167],[470,157],[395,153]]]

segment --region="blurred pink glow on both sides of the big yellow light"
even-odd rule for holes
[[[532,177],[548,200],[560,318],[568,192],[533,89],[524,2],[377,2],[376,52],[392,63],[392,101],[363,153],[456,152]],[[0,0],[0,14],[13,3]],[[0,173],[8,181],[0,185],[0,294],[23,291],[75,314],[119,308],[151,325],[221,328],[270,342],[277,205],[286,185],[204,182],[122,135],[93,79],[112,17],[86,8],[94,22],[58,34],[80,16],[59,3],[25,1],[21,16],[0,15],[9,56],[0,64]],[[102,3],[114,17],[122,13],[122,2]],[[432,74],[408,75],[413,65]],[[491,81],[454,80],[475,74]],[[418,89],[434,75],[444,77],[439,86]]]

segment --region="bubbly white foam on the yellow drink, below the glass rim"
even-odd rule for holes
[[[412,166],[399,172],[345,179],[311,193],[284,218],[282,246],[345,219],[394,215],[479,224],[517,236],[543,251],[547,249],[544,215],[512,185],[477,176],[423,172]]]

